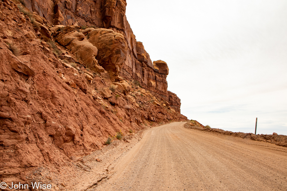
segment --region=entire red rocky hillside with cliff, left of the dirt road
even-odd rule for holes
[[[166,62],[151,62],[125,6],[0,1],[1,181],[67,166],[117,132],[187,119],[167,91]]]

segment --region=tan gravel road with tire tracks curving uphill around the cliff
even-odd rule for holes
[[[95,190],[287,190],[287,148],[183,125],[146,130]]]

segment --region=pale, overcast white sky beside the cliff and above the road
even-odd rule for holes
[[[287,135],[286,0],[127,0],[152,61],[168,64],[181,113],[233,132]]]

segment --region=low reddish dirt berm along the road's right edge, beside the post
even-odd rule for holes
[[[263,141],[267,143],[272,143],[275,145],[287,147],[287,136],[286,135],[255,135],[253,133],[243,133],[243,132],[232,132],[232,131],[224,131],[223,129],[214,129],[214,128],[203,128],[200,126],[191,126],[189,123],[185,124],[185,128],[187,129],[198,129],[201,131],[207,132],[215,132],[223,135],[230,135],[233,137],[240,138],[250,138],[254,141]]]

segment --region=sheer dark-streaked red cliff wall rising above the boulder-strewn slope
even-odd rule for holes
[[[137,42],[125,16],[125,0],[25,0],[25,3],[30,11],[46,18],[50,24],[95,26],[121,33],[127,42],[127,51],[119,75],[139,81],[143,88],[168,100],[168,67],[161,65],[160,70],[154,67],[143,43]]]

